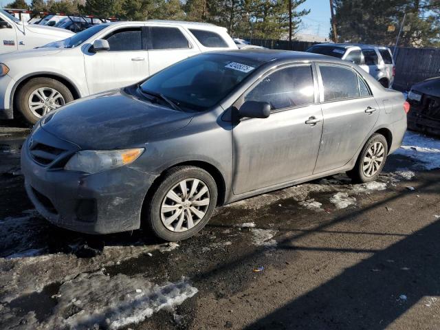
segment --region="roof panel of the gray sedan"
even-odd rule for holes
[[[242,50],[223,50],[214,51],[211,54],[230,54],[233,56],[245,57],[255,59],[262,62],[270,61],[283,61],[283,60],[295,60],[295,61],[322,61],[331,60],[333,62],[341,62],[338,58],[331,56],[325,56],[321,54],[307,53],[307,52],[294,52],[292,50],[268,50],[265,48],[248,48]]]

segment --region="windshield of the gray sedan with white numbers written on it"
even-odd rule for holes
[[[217,104],[263,62],[228,54],[201,54],[151,76],[140,85],[181,108],[203,111]]]

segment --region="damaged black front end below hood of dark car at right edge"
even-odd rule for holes
[[[440,135],[440,98],[423,94],[421,100],[411,100],[408,129]]]

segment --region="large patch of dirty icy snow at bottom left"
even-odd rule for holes
[[[59,287],[57,305],[45,322],[35,326],[38,322],[30,312],[31,322],[22,329],[120,329],[161,309],[173,311],[197,291],[186,278],[155,285],[141,275],[84,273]],[[10,310],[0,310],[0,321],[10,322],[9,316]]]

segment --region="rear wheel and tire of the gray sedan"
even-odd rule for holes
[[[377,179],[385,166],[388,143],[384,135],[374,133],[362,148],[355,167],[347,172],[353,183],[364,184]]]

